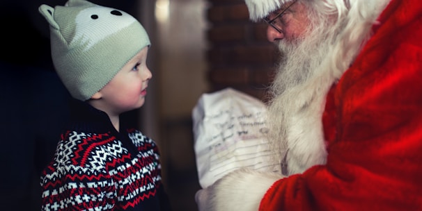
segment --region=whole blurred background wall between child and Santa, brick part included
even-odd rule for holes
[[[157,0],[164,1],[164,0]],[[267,24],[253,23],[243,0],[169,1],[157,21],[159,142],[175,210],[196,210],[200,189],[191,111],[204,92],[233,87],[263,101],[278,54]],[[157,10],[156,10],[157,12]],[[157,14],[156,14],[157,15]]]

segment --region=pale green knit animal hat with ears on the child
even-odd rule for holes
[[[107,85],[141,49],[148,34],[131,15],[84,0],[42,5],[50,28],[52,60],[75,99],[86,101]]]

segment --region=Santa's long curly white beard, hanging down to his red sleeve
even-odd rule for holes
[[[383,2],[384,6],[386,2]],[[313,22],[306,37],[295,37],[296,42],[279,42],[284,57],[271,87],[268,139],[277,155],[274,159],[282,162],[284,175],[302,173],[315,164],[325,164],[327,149],[322,113],[327,92],[350,67],[370,37],[370,28],[384,8],[380,4],[366,5],[366,10],[373,13],[347,25],[334,22],[328,15],[310,12]],[[351,12],[362,12],[362,8],[352,8]]]

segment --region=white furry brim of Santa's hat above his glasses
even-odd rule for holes
[[[293,0],[245,0],[245,3],[249,10],[249,18],[257,21],[290,1]]]

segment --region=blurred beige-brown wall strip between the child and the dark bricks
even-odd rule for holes
[[[209,92],[206,71],[205,0],[155,1],[157,51],[151,83],[159,110],[155,134],[162,152],[163,179],[174,210],[196,210],[200,189],[193,151],[192,109]],[[148,96],[150,97],[150,96]]]

